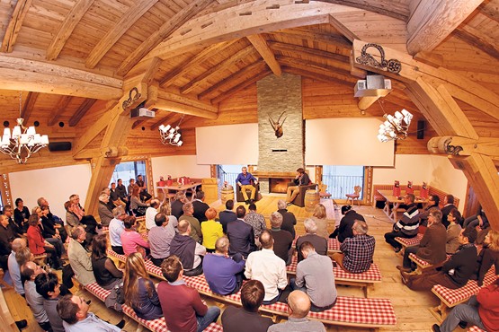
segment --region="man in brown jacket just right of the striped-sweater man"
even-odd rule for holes
[[[441,224],[441,211],[432,210],[428,214],[428,228],[424,232],[423,239],[419,245],[405,248],[403,266],[397,268],[404,272],[414,271],[415,264],[409,258],[409,254],[415,254],[432,265],[443,262],[446,259],[446,234],[445,226]]]

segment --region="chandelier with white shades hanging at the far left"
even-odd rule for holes
[[[24,127],[22,114],[22,92],[19,92],[19,118],[17,126],[13,127],[12,135],[10,128],[4,128],[4,135],[0,143],[0,151],[15,159],[18,163],[26,163],[32,153],[38,153],[42,147],[49,144],[48,135],[36,133],[35,127]]]

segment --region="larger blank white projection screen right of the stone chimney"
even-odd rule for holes
[[[307,165],[393,166],[394,142],[379,142],[377,118],[306,120]]]

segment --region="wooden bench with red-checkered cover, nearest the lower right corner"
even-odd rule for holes
[[[495,278],[495,267],[492,266],[484,277],[483,287],[492,284],[495,281]],[[432,293],[437,295],[441,303],[436,307],[430,308],[430,311],[432,311],[432,314],[436,319],[443,321],[443,319],[447,317],[447,310],[449,308],[468,301],[468,299],[472,295],[476,295],[479,290],[480,286],[478,286],[476,280],[469,280],[467,284],[458,289],[449,289],[441,284],[436,284],[432,287]]]

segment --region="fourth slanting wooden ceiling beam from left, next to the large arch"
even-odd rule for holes
[[[127,74],[133,66],[136,66],[139,61],[143,60],[143,57],[145,57],[147,53],[163,40],[167,39],[172,32],[180,28],[185,22],[204,10],[212,2],[213,0],[193,0],[190,4],[187,4],[168,22],[165,22],[157,31],[147,37],[147,39],[121,63],[117,73],[120,75]]]

